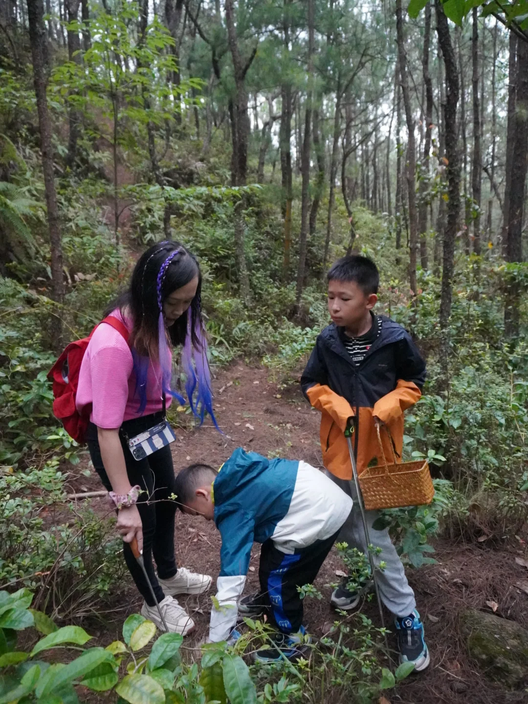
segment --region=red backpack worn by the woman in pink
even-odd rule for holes
[[[120,320],[109,315],[101,322],[111,325],[128,342],[128,330]],[[84,406],[79,412],[75,406],[75,396],[77,396],[82,358],[97,327],[99,326],[96,325],[88,337],[70,342],[48,373],[48,379],[53,382],[54,415],[61,421],[68,435],[79,443],[84,442],[92,405]]]

